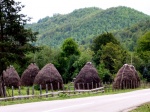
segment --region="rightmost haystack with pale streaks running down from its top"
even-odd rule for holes
[[[124,64],[114,79],[115,89],[137,88],[140,86],[140,78],[133,65]]]

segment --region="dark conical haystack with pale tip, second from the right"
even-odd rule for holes
[[[93,89],[101,86],[101,80],[96,68],[87,62],[74,80],[76,89]]]

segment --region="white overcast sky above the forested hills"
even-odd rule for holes
[[[32,17],[31,22],[37,22],[53,14],[67,14],[75,9],[99,7],[107,9],[116,6],[127,6],[150,15],[150,0],[15,0],[25,7],[22,13]]]

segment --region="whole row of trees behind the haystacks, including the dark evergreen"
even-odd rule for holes
[[[0,95],[4,90],[3,70],[13,65],[21,75],[29,63],[40,68],[53,63],[65,83],[72,81],[84,64],[92,62],[103,82],[112,81],[124,63],[133,64],[150,81],[150,32],[142,35],[134,52],[124,49],[112,33],[95,36],[88,47],[66,38],[60,47],[35,46],[37,32],[25,28],[27,18],[19,12],[24,6],[13,0],[0,1]],[[132,62],[131,62],[132,54]]]

